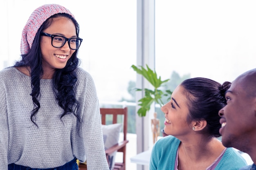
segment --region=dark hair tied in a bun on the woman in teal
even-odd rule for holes
[[[181,84],[184,87],[184,95],[187,97],[189,106],[188,122],[192,120],[206,120],[207,131],[213,137],[220,137],[219,110],[227,102],[225,92],[230,87],[230,82],[220,84],[214,80],[196,77],[184,80]]]

